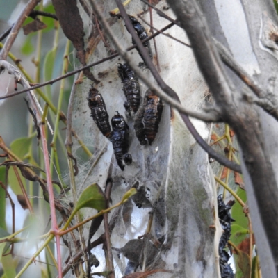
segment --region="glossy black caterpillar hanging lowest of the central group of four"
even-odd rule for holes
[[[131,165],[132,157],[127,153],[129,149],[129,126],[124,122],[124,117],[117,112],[112,120],[112,133],[109,140],[113,144],[117,165],[124,171],[124,163]]]

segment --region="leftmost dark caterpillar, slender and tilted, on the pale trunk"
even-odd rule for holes
[[[92,119],[97,124],[97,127],[101,133],[107,138],[111,135],[111,126],[109,124],[109,116],[106,111],[104,99],[102,98],[99,91],[95,88],[90,88],[88,104],[91,110]]]

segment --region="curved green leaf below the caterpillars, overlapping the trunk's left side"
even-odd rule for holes
[[[85,188],[79,196],[73,213],[76,213],[81,208],[95,208],[97,211],[106,208],[106,197],[97,183],[93,183],[88,188]]]

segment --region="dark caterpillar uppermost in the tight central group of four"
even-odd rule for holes
[[[131,110],[133,113],[136,113],[138,111],[141,99],[138,78],[127,64],[122,65],[119,63],[117,66],[117,72],[119,73],[119,76],[122,80],[122,90],[126,96],[124,108],[126,108],[126,111],[129,112],[129,115]]]

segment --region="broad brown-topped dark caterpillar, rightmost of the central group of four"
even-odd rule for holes
[[[161,121],[163,104],[160,97],[154,94],[152,90],[147,90],[145,93],[144,103],[136,115],[134,129],[136,136],[141,145],[152,145],[158,125]],[[147,140],[146,140],[147,139]]]

